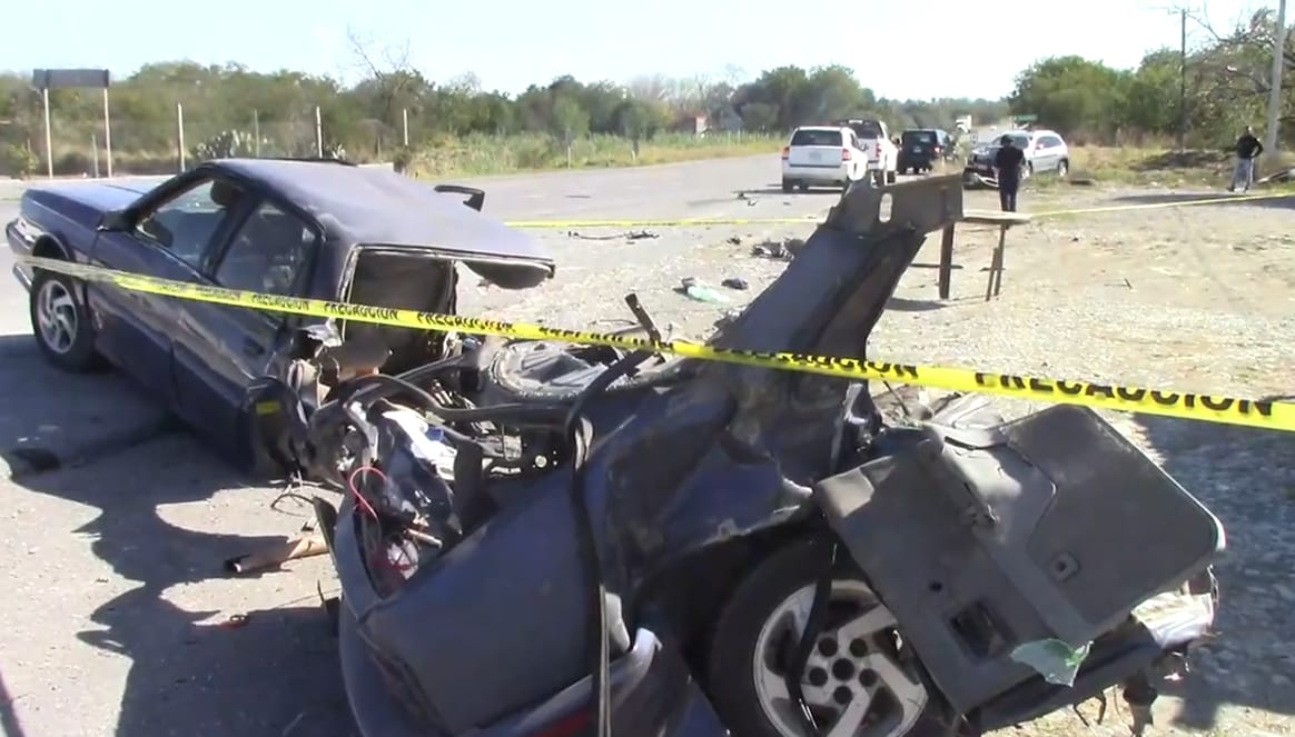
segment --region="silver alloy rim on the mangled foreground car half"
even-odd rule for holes
[[[782,737],[800,737],[796,705],[787,694],[781,663],[804,631],[813,586],[782,600],[756,636],[751,678],[760,709]],[[917,724],[929,694],[895,617],[866,583],[831,583],[829,625],[805,666],[804,702],[828,736],[901,737]]]

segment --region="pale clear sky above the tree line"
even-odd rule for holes
[[[241,62],[354,79],[347,28],[373,48],[404,47],[430,79],[473,72],[518,92],[561,74],[627,79],[755,75],[780,65],[844,63],[878,94],[998,97],[1053,54],[1134,66],[1178,45],[1175,0],[87,0],[14,3],[0,69],[107,67],[153,61]],[[1276,0],[1178,0],[1217,28]],[[381,8],[377,14],[370,9]],[[852,13],[857,26],[833,16]],[[1189,22],[1189,43],[1207,34]],[[22,28],[23,32],[14,32]],[[857,31],[855,30],[857,28]],[[378,54],[381,56],[381,53]]]

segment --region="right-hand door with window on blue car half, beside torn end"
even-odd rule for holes
[[[275,198],[250,197],[242,217],[214,244],[197,277],[231,290],[299,296],[321,242],[316,226]],[[180,308],[175,337],[181,414],[224,450],[240,454],[249,389],[277,375],[294,318],[201,301]]]

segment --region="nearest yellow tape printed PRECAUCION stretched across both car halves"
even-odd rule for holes
[[[1213,423],[1226,423],[1256,428],[1295,431],[1295,403],[1269,400],[1239,400],[1212,394],[1195,394],[1138,387],[1119,387],[1094,381],[1067,381],[1040,376],[992,374],[970,368],[916,366],[834,358],[804,353],[769,353],[715,348],[682,340],[650,340],[624,335],[606,335],[584,330],[562,330],[540,325],[512,323],[478,317],[436,314],[409,309],[382,308],[265,295],[223,287],[193,284],[171,279],[158,279],[100,266],[70,264],[67,261],[21,257],[19,261],[38,269],[67,274],[79,279],[107,282],[124,290],[164,295],[185,300],[241,306],[264,312],[337,318],[394,327],[420,330],[458,331],[478,335],[497,335],[521,340],[561,340],[588,345],[607,345],[625,350],[649,349],[672,353],[701,361],[719,361],[741,366],[776,368],[820,374],[852,380],[884,380],[916,384],[953,392],[980,392],[1023,400],[1081,405],[1164,415]]]

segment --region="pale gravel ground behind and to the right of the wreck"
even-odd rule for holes
[[[765,202],[785,197],[763,193]],[[1154,190],[1049,187],[1024,191],[1020,209],[1158,204],[1195,195]],[[824,199],[824,209],[831,198]],[[995,208],[993,193],[966,207]],[[765,215],[772,211],[763,211]],[[931,237],[873,336],[872,358],[1110,380],[1242,397],[1295,394],[1295,199],[1044,217],[1009,234],[1002,295],[984,301],[995,235],[960,233],[952,299],[936,297],[939,238]],[[583,326],[588,315],[628,318],[638,292],[660,323],[702,336],[782,270],[752,246],[807,237],[805,226],[657,229],[631,240],[614,229],[548,233],[575,266],[524,296],[467,295],[502,318],[545,315]],[[605,238],[596,240],[594,238]],[[581,266],[580,259],[618,264]],[[673,291],[684,277],[714,284],[730,304]],[[728,277],[749,291],[720,287]],[[471,290],[466,290],[471,291]],[[606,325],[606,323],[602,323]],[[1002,402],[1009,414],[1030,407]],[[1217,639],[1193,672],[1168,684],[1153,734],[1295,734],[1295,436],[1164,418],[1106,414],[1222,520],[1228,552]],[[1118,700],[1112,700],[1114,702]],[[1087,714],[1096,714],[1090,705]],[[1128,734],[1112,707],[1088,728],[1070,712],[1005,734]]]

